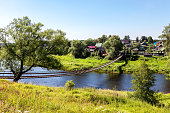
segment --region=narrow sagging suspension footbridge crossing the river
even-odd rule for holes
[[[108,65],[111,65],[112,63],[114,63],[117,60],[121,59],[122,56],[123,55],[115,58],[111,62],[102,64],[102,65],[100,65],[98,67],[94,67],[94,68],[91,68],[91,69],[78,70],[78,71],[75,71],[75,72],[64,72],[63,71],[63,72],[51,72],[51,73],[24,73],[23,74],[24,76],[21,76],[20,78],[21,79],[26,79],[26,78],[48,78],[48,77],[61,77],[61,76],[70,76],[70,75],[79,75],[79,74],[89,73],[89,72],[104,68],[104,67],[106,67]],[[6,74],[11,74],[12,75],[11,72],[0,72],[0,75],[3,75],[3,76],[0,76],[0,79],[13,79],[14,78],[14,76],[5,76]],[[27,74],[29,74],[29,76],[27,76]],[[31,74],[31,76],[30,76],[30,74]]]

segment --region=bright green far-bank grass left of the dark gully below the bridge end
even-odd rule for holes
[[[100,65],[103,65],[111,60],[102,59],[99,57],[88,57],[86,59],[74,58],[72,55],[66,56],[54,56],[54,58],[60,59],[63,70],[76,71],[83,69],[90,69]],[[123,65],[124,61],[117,61],[110,66],[97,70],[98,72],[119,72],[118,67]]]

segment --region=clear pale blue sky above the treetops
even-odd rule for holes
[[[0,0],[0,28],[28,16],[70,40],[101,35],[161,35],[170,23],[170,0]]]

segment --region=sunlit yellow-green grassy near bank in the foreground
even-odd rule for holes
[[[164,107],[130,98],[125,91],[93,88],[66,91],[0,80],[0,112],[4,113],[168,113],[170,94],[161,94]]]

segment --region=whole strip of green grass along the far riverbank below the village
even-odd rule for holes
[[[61,63],[63,64],[63,69],[67,71],[71,70],[81,70],[81,69],[88,69],[100,66],[104,63],[110,62],[110,60],[100,59],[98,57],[88,57],[86,59],[76,59],[72,55],[67,56],[54,56],[54,58],[60,59]],[[125,65],[124,60],[119,60],[105,68],[98,70],[99,72],[114,72],[119,73],[120,69],[124,73],[132,73],[135,71],[140,62],[145,61],[148,64],[149,68],[153,70],[155,73],[164,73],[169,74],[170,66],[168,66],[167,62],[170,61],[169,57],[139,57],[138,60],[135,61],[128,61],[128,64]]]

